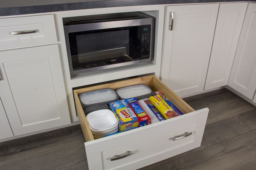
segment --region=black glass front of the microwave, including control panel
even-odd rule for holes
[[[149,58],[150,25],[69,33],[73,70]]]

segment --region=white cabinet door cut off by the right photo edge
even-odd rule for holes
[[[249,99],[256,89],[256,3],[249,3],[228,85]]]

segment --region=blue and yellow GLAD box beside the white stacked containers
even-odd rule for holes
[[[116,114],[119,121],[119,131],[131,130],[138,127],[138,118],[129,107],[129,103],[137,99],[123,99],[109,103],[111,110]]]

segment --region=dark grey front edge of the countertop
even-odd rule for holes
[[[0,8],[0,16],[37,14],[45,12],[70,11],[90,8],[108,8],[119,6],[143,6],[159,4],[182,4],[182,3],[225,3],[225,2],[256,2],[256,0],[104,0],[79,3],[62,3],[40,6],[21,6]]]

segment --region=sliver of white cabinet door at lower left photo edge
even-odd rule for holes
[[[1,83],[1,82],[0,82]],[[2,101],[0,99],[0,139],[12,137],[12,129],[6,117]]]

